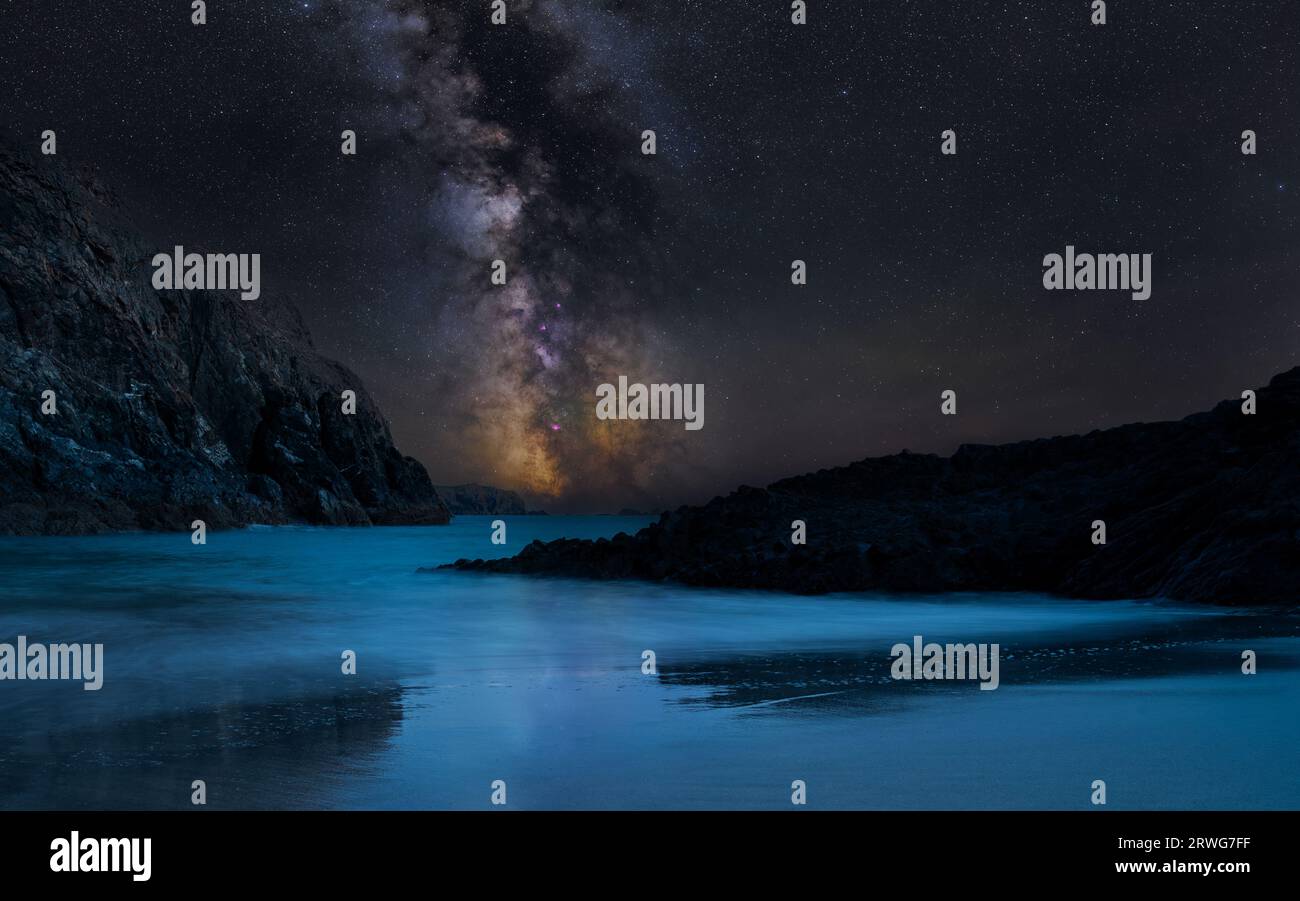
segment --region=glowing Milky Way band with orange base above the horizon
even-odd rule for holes
[[[341,9],[346,39],[377,57],[368,70],[393,127],[422,160],[411,190],[437,235],[429,265],[443,273],[432,302],[455,348],[439,382],[460,424],[455,452],[541,498],[649,486],[681,437],[592,416],[598,384],[655,377],[673,356],[654,329],[654,285],[640,278],[656,198],[636,170],[640,134],[614,114],[608,74],[581,44],[593,21],[550,3],[515,8],[510,30],[465,4]],[[495,55],[530,60],[511,70],[528,83],[491,83]],[[503,286],[489,280],[494,260]]]

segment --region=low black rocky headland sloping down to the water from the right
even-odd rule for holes
[[[741,488],[636,536],[533,542],[493,572],[818,593],[1040,590],[1300,602],[1300,368],[1178,423],[900,454]],[[790,523],[807,545],[790,543]],[[1093,520],[1106,543],[1092,542]]]

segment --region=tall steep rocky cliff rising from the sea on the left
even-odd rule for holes
[[[0,533],[448,520],[290,304],[156,291],[162,250],[94,181],[0,148]]]

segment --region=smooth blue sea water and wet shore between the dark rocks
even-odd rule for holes
[[[646,521],[0,538],[0,641],[105,647],[0,681],[0,806],[1300,807],[1294,616],[419,572]],[[1001,688],[893,681],[913,634]]]

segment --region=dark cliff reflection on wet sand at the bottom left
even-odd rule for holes
[[[29,732],[0,750],[8,809],[328,807],[373,771],[402,722],[403,689],[358,683],[283,702],[240,703]]]

